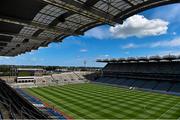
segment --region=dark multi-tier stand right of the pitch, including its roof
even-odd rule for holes
[[[176,56],[129,57],[97,62],[108,64],[102,69],[103,75],[93,82],[180,95],[180,61]]]

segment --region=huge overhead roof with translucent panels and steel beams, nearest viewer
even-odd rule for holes
[[[180,0],[1,0],[0,56],[16,56]]]

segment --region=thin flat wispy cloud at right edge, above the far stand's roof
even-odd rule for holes
[[[180,38],[176,38],[169,41],[159,41],[152,43],[151,47],[179,47],[180,46]]]

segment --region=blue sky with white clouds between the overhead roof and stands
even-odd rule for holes
[[[180,55],[180,4],[134,15],[122,25],[103,25],[84,36],[67,37],[17,57],[0,57],[0,64],[104,66],[96,59]]]

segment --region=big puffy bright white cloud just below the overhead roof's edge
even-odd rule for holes
[[[157,36],[167,33],[168,24],[161,19],[149,20],[142,15],[134,15],[125,20],[122,25],[110,27],[110,32],[115,38]]]

